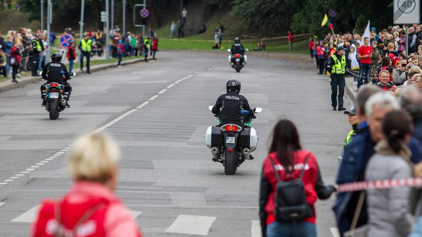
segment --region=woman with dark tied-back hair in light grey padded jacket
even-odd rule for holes
[[[407,112],[393,110],[385,114],[382,121],[385,138],[378,142],[376,153],[368,162],[366,180],[413,177],[411,152],[407,146],[412,132],[412,119]],[[410,190],[411,187],[367,190],[367,236],[408,236],[413,227],[413,218],[409,212]]]

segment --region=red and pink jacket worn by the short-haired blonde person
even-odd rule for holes
[[[70,233],[78,221],[82,222],[72,236],[142,237],[129,210],[111,190],[98,183],[76,182],[63,199],[44,201],[31,236],[53,237],[58,227],[56,216],[61,223],[59,228]]]

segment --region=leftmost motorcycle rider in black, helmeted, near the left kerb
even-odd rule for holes
[[[46,63],[46,65],[44,65],[43,73],[41,74],[41,76],[44,80],[47,80],[47,82],[44,83],[40,88],[41,98],[43,99],[42,106],[46,106],[47,102],[47,93],[44,92],[44,86],[55,82],[64,86],[64,99],[66,101],[66,107],[71,107],[67,102],[71,97],[72,93],[72,87],[67,83],[67,80],[69,80],[71,76],[69,75],[66,66],[60,61],[61,54],[56,52],[51,56],[51,62]]]

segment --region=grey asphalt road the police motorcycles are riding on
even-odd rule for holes
[[[96,129],[121,146],[117,194],[146,236],[259,236],[261,165],[282,117],[297,125],[325,182],[334,182],[349,126],[342,112],[331,110],[327,78],[308,62],[250,54],[236,73],[226,54],[157,56],[156,62],[75,77],[72,107],[57,121],[41,107],[39,84],[0,93],[0,235],[29,234],[37,205],[63,195],[72,182],[64,168],[68,145]],[[256,159],[226,176],[203,134],[216,123],[207,106],[232,77],[263,112],[253,122],[260,138]],[[318,201],[319,236],[333,236],[332,204],[333,198]]]

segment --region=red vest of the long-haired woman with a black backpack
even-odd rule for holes
[[[266,212],[266,224],[270,224],[271,222],[276,221],[274,217],[274,198],[276,196],[275,186],[277,184],[277,178],[275,177],[274,169],[272,168],[271,161],[274,161],[276,169],[280,175],[282,180],[292,180],[294,178],[298,178],[300,174],[300,170],[303,167],[303,162],[305,160],[306,155],[309,154],[308,161],[305,165],[305,169],[303,172],[303,185],[306,191],[306,201],[310,204],[313,210],[313,215],[304,221],[315,223],[315,207],[314,204],[318,199],[316,195],[315,185],[316,180],[318,178],[318,165],[316,164],[315,155],[307,150],[298,150],[294,152],[294,172],[293,177],[285,177],[284,167],[278,162],[276,152],[270,153],[264,160],[263,164],[263,176],[265,180],[270,184],[270,191],[268,195],[268,200],[265,205],[265,212]],[[260,194],[261,196],[263,193]]]

